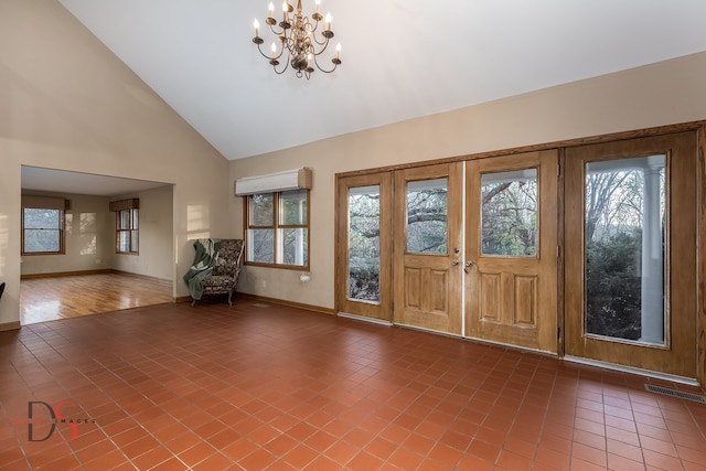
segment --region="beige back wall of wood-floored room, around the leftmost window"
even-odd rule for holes
[[[65,253],[63,255],[24,255],[22,275],[55,274],[62,271],[100,270],[110,268],[115,245],[113,214],[108,211],[107,196],[84,194],[57,194],[50,192],[23,192],[43,196],[64,197],[71,201],[65,215]]]

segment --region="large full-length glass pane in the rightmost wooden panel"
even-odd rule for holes
[[[665,343],[665,156],[586,164],[586,333]]]

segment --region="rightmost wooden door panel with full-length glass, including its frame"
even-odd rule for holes
[[[566,152],[566,354],[696,376],[696,137]]]

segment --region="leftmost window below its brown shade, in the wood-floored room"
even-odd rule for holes
[[[22,208],[22,255],[64,254],[64,211]]]

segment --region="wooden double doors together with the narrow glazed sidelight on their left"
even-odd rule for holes
[[[340,179],[339,310],[556,351],[557,154]]]

